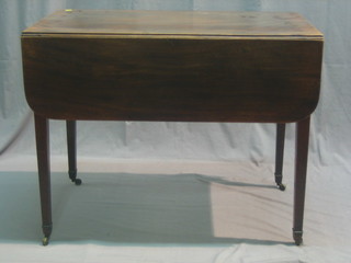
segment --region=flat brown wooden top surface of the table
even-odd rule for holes
[[[33,34],[322,37],[297,13],[136,10],[60,10],[23,31]]]

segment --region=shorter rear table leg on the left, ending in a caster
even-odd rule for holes
[[[77,179],[77,125],[76,121],[66,121],[67,151],[68,151],[68,174],[69,179],[80,185],[81,180]]]

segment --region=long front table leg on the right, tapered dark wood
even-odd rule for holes
[[[294,190],[294,227],[293,237],[295,243],[303,242],[303,222],[305,208],[305,190],[308,158],[310,117],[296,124],[296,150],[295,150],[295,190]]]

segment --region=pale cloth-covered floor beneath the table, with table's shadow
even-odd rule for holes
[[[351,262],[348,168],[309,167],[296,247],[288,161],[285,192],[270,163],[84,158],[81,186],[66,165],[53,158],[54,231],[42,247],[35,158],[0,160],[0,262]]]

